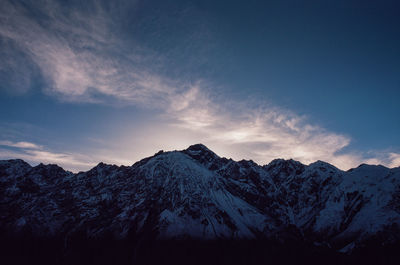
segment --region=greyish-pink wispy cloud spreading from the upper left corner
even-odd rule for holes
[[[5,1],[0,35],[39,67],[47,93],[66,101],[110,103],[114,98],[119,103],[147,106],[165,104],[165,99],[184,92],[181,84],[146,69],[144,61],[154,56],[144,56],[143,48],[125,52],[132,47],[117,39],[110,11],[96,4],[100,2],[90,2],[94,3],[90,12],[54,1],[39,3],[31,8],[46,19]],[[15,71],[14,67],[9,70]]]

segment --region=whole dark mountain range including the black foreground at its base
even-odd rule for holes
[[[77,174],[0,161],[2,264],[400,264],[400,168],[201,144]]]

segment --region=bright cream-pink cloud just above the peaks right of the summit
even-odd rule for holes
[[[234,154],[235,159],[246,157],[261,164],[278,157],[303,163],[325,160],[346,169],[359,162],[355,155],[338,154],[349,145],[348,136],[311,125],[305,117],[277,107],[254,108],[232,101],[217,104],[206,98],[175,115],[176,126],[201,133],[204,142],[220,146],[224,155]]]

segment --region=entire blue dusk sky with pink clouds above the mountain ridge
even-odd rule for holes
[[[400,166],[397,1],[2,1],[0,159]]]

